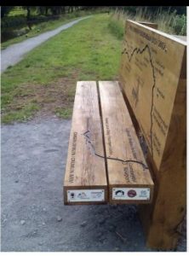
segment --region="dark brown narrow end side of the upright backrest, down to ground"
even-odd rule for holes
[[[186,214],[186,51],[163,161],[155,174],[157,183],[152,206],[140,208],[147,245],[175,248],[180,224]],[[151,218],[146,218],[146,214]],[[157,237],[157,233],[160,236]]]

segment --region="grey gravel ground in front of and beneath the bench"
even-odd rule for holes
[[[2,126],[2,251],[152,252],[137,207],[64,206],[70,129],[55,117]]]

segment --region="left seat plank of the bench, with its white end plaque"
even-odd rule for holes
[[[107,181],[103,157],[96,83],[77,82],[64,182],[65,204],[106,203]]]

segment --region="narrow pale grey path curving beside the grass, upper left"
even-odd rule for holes
[[[29,52],[31,49],[37,47],[39,44],[42,44],[49,38],[54,37],[54,35],[60,33],[63,30],[77,24],[80,20],[88,19],[90,16],[79,18],[73,20],[65,25],[62,25],[53,31],[44,32],[37,37],[26,39],[25,41],[19,44],[10,45],[8,48],[1,51],[1,73],[7,69],[7,67],[14,66],[17,62],[21,61],[23,56]]]

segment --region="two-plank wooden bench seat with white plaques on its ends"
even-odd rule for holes
[[[153,182],[116,81],[77,82],[65,204],[146,204]]]

